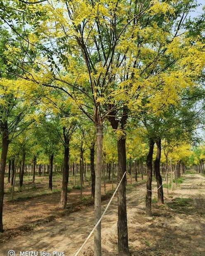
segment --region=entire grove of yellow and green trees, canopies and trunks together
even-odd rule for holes
[[[204,124],[205,14],[196,13],[198,6],[195,0],[0,0],[1,232],[6,168],[13,197],[17,169],[21,186],[25,166],[32,165],[35,182],[49,165],[52,190],[56,166],[65,208],[69,178],[79,174],[82,200],[89,165],[94,224],[102,214],[101,186],[114,176],[122,180],[117,245],[119,256],[130,255],[125,172],[136,180],[147,176],[151,216],[153,173],[162,204],[160,172],[174,182],[185,166],[203,162],[200,147],[193,148]],[[101,224],[94,254],[101,256]]]

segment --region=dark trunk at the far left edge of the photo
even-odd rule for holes
[[[1,162],[0,162],[0,232],[3,232],[3,201],[4,201],[4,176],[6,168],[6,159],[9,146],[9,136],[7,130],[2,132],[2,151],[1,151]]]

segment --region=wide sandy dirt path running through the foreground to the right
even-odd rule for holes
[[[155,185],[153,185],[155,188]],[[186,174],[162,206],[153,204],[152,218],[144,216],[145,184],[127,193],[129,246],[133,256],[205,256],[205,177]],[[164,189],[164,193],[166,190]],[[154,193],[156,195],[156,193]],[[107,201],[103,202],[103,208]],[[73,256],[93,228],[93,207],[55,219],[0,246],[0,256],[19,251],[64,252]],[[117,200],[102,222],[103,256],[117,255]],[[93,239],[81,255],[92,256]],[[40,254],[38,254],[40,255]]]

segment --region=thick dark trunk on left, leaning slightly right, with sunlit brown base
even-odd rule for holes
[[[61,190],[61,198],[60,198],[60,208],[62,209],[65,209],[67,204],[68,169],[69,169],[69,145],[67,144],[66,146],[64,146],[62,190]]]

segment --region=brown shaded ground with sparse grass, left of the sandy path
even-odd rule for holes
[[[60,214],[63,210],[59,209],[61,182],[59,177],[53,177],[53,192],[48,190],[48,177],[36,176],[36,183],[33,184],[31,178],[24,180],[24,189],[18,191],[18,185],[14,193],[14,201],[10,201],[10,184],[5,185],[5,202],[3,210],[4,229],[12,230],[29,225],[39,219],[48,218],[51,215]],[[71,186],[71,184],[69,184]],[[116,184],[114,184],[114,188]],[[112,190],[112,184],[106,184],[106,192]],[[43,194],[47,193],[47,194]],[[102,195],[104,187],[102,185]],[[86,181],[83,188],[83,200],[91,197],[91,186]],[[72,189],[68,193],[67,208],[80,204],[80,189]]]

